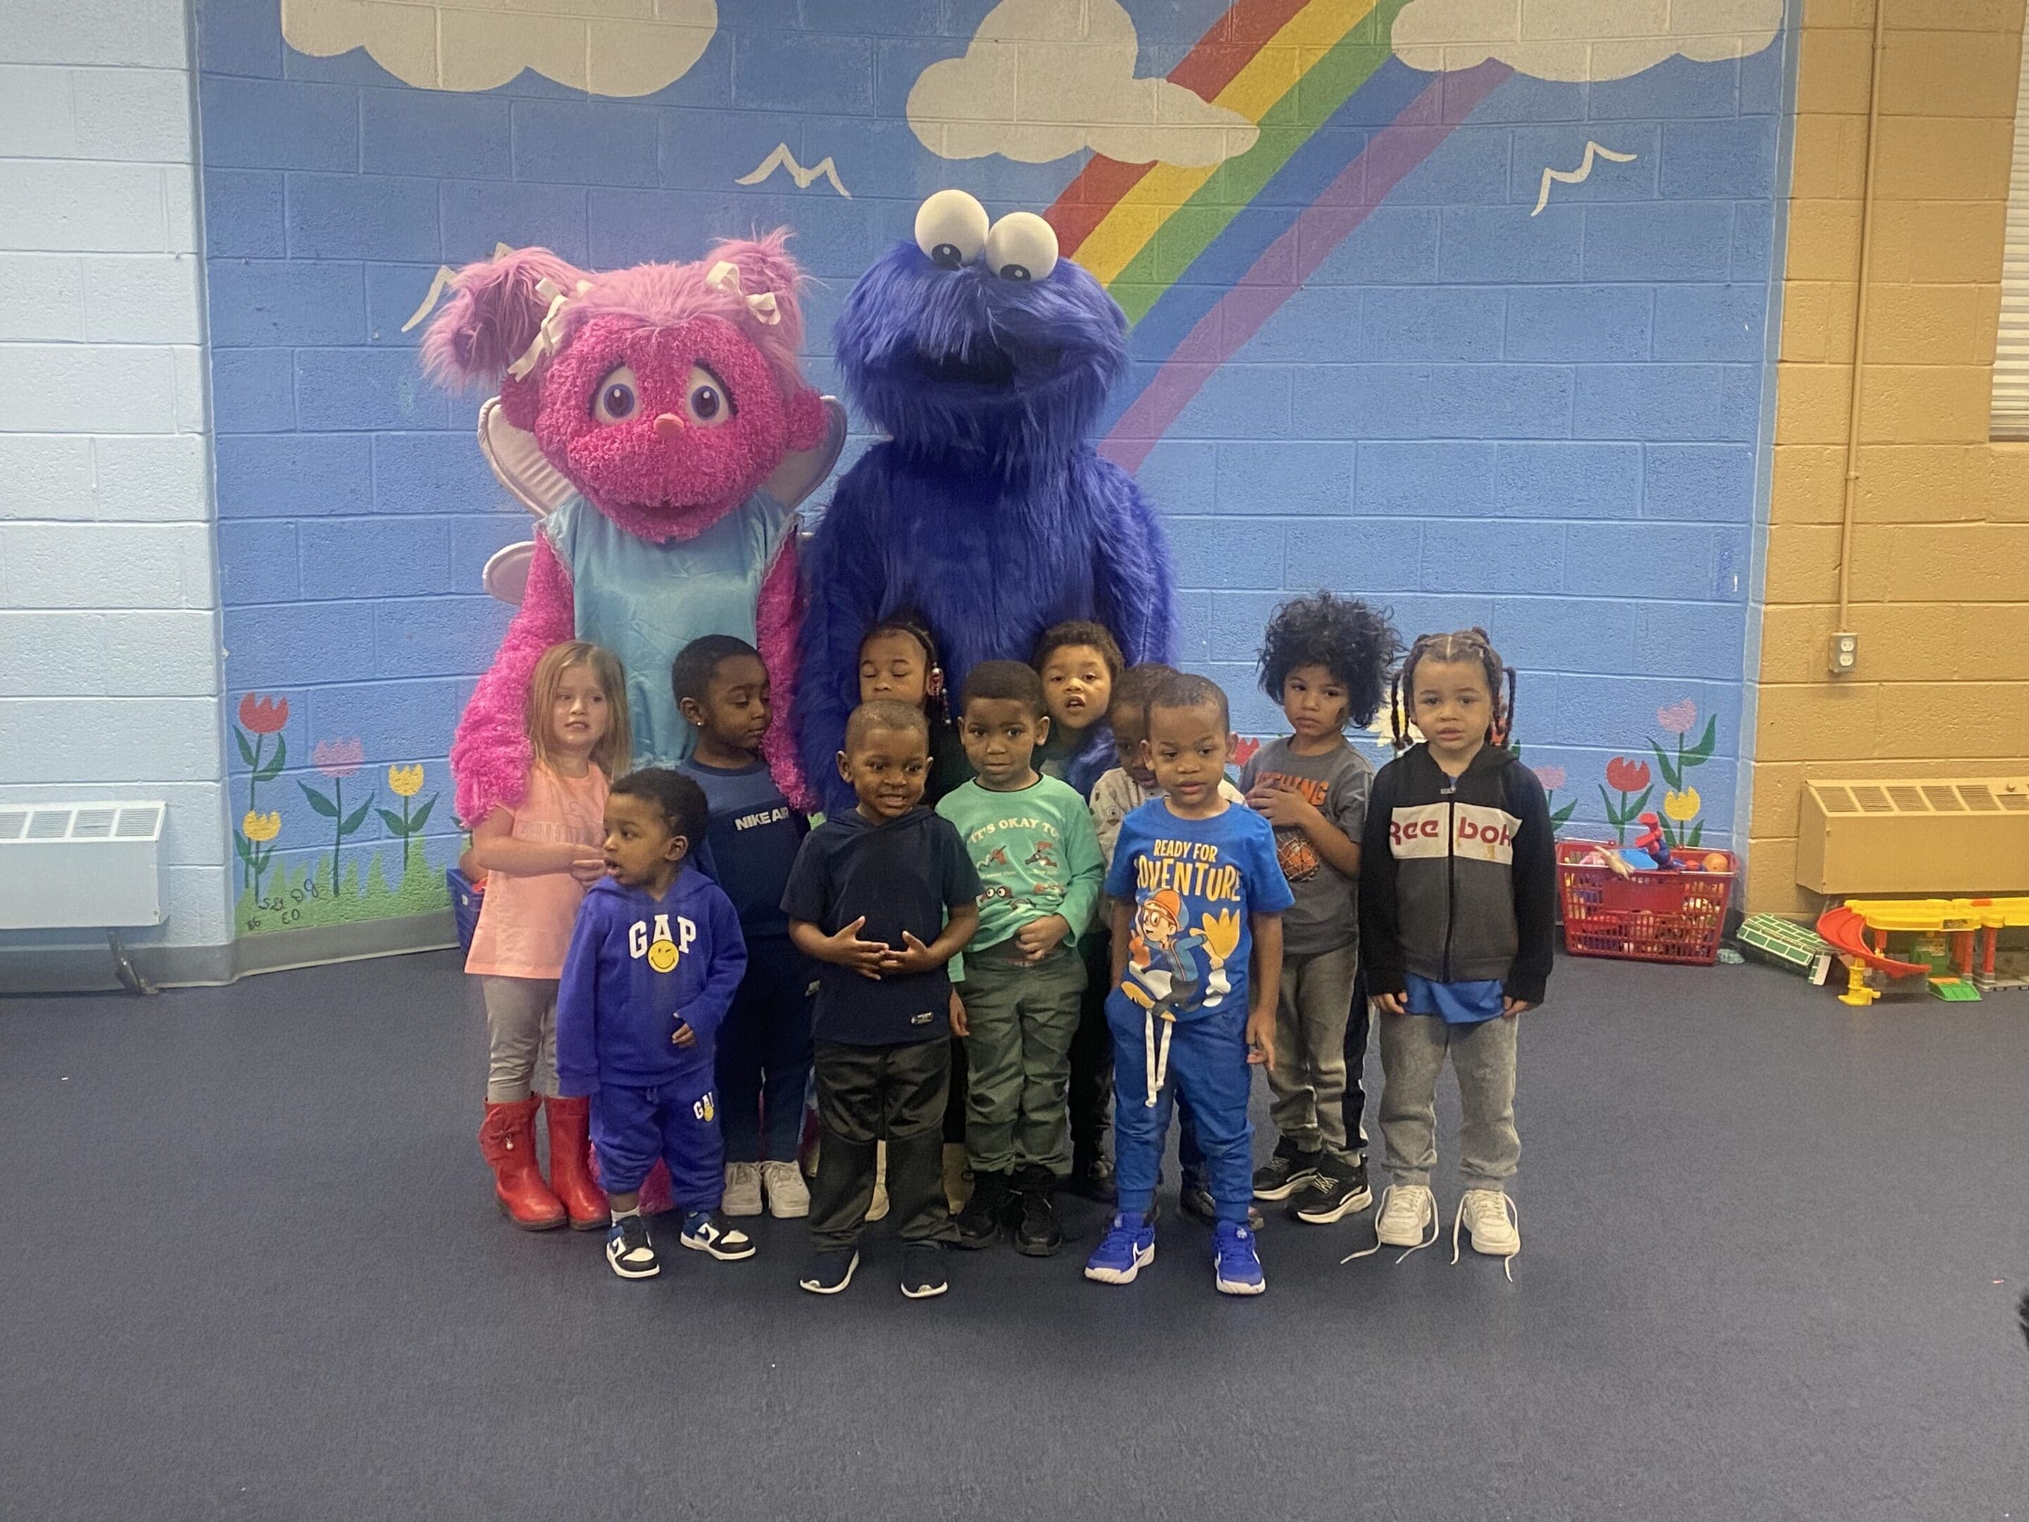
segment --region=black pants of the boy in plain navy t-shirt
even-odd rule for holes
[[[844,1252],[860,1240],[874,1197],[874,1143],[889,1145],[889,1201],[907,1242],[943,1242],[943,1100],[948,1037],[903,1047],[818,1043],[818,1124],[824,1147],[810,1191],[810,1244]]]

